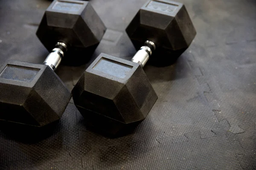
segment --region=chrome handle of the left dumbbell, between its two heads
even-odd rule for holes
[[[67,45],[63,42],[57,42],[55,48],[52,49],[52,52],[44,60],[44,65],[49,65],[55,71],[58,65],[60,65],[61,59],[64,57],[66,51]]]

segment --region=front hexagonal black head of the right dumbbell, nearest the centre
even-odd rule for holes
[[[87,68],[72,94],[87,125],[110,134],[138,125],[157,100],[139,64],[103,53]]]

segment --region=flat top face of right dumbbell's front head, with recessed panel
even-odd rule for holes
[[[138,67],[140,65],[137,63],[102,53],[86,71],[107,79],[125,83]]]

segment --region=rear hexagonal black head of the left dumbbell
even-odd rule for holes
[[[45,11],[36,34],[48,51],[52,51],[57,42],[64,42],[68,45],[68,56],[72,56],[64,57],[64,61],[82,64],[99,45],[105,30],[89,2],[54,0]]]

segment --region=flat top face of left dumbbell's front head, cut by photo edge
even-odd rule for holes
[[[8,61],[0,68],[0,83],[32,87],[47,65]]]

